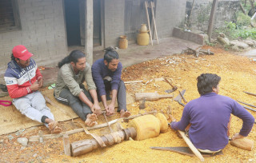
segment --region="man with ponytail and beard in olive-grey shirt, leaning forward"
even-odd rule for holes
[[[74,50],[58,63],[58,68],[60,70],[54,97],[63,104],[70,105],[86,125],[96,125],[97,116],[102,113],[102,110],[98,105],[96,86],[91,76],[91,67],[86,62],[86,54],[80,50]],[[84,81],[90,93],[82,84]]]

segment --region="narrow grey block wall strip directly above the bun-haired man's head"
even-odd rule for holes
[[[105,47],[118,46],[118,38],[124,31],[124,0],[104,0],[105,3]]]

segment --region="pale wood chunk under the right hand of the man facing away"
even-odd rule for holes
[[[254,141],[244,137],[242,139],[235,139],[234,141],[230,141],[230,145],[251,151],[254,148]]]

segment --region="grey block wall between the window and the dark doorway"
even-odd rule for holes
[[[34,54],[38,66],[56,62],[67,54],[62,0],[17,2],[22,29],[0,34],[1,77],[6,71],[6,64],[10,62],[14,46],[26,46]]]

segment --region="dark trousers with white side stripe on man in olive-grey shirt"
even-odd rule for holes
[[[86,94],[86,97],[92,101],[90,93],[86,89],[83,89],[83,92]],[[69,89],[62,89],[59,97],[55,98],[57,101],[62,102],[62,104],[70,105],[70,107],[74,110],[74,113],[81,117],[82,121],[86,121],[87,114],[92,113],[90,107],[82,102],[79,97],[74,96]]]

